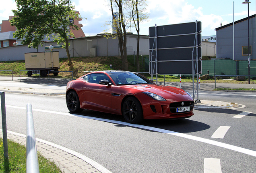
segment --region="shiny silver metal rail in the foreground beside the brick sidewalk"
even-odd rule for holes
[[[27,173],[39,173],[39,164],[37,157],[37,145],[35,141],[35,129],[32,113],[32,105],[27,104],[27,161],[26,172]]]

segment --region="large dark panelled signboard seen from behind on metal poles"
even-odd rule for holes
[[[197,65],[201,74],[201,28],[197,21],[150,27],[150,74],[197,74]]]

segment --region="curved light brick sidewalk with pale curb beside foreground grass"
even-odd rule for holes
[[[0,129],[2,138],[2,129]],[[7,131],[7,139],[26,147],[26,135]],[[36,138],[37,151],[46,159],[53,161],[62,173],[111,173],[95,161],[75,151]]]

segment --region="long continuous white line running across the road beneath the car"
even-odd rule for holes
[[[17,106],[11,106],[11,105],[6,105],[6,107],[12,107],[12,108],[16,108],[16,109],[26,109],[25,107],[17,107]],[[202,142],[202,143],[207,143],[207,144],[210,144],[210,145],[215,145],[215,146],[218,146],[218,147],[222,147],[222,148],[225,148],[225,149],[230,149],[230,150],[233,150],[233,151],[237,151],[237,152],[240,152],[240,153],[244,153],[244,154],[256,157],[256,151],[253,151],[253,150],[250,150],[250,149],[245,149],[245,148],[242,148],[242,147],[237,147],[237,146],[234,146],[234,145],[229,145],[229,144],[226,144],[226,143],[221,143],[221,142],[213,141],[213,140],[210,140],[210,139],[205,139],[205,138],[201,138],[201,137],[187,135],[187,134],[184,134],[184,133],[178,133],[178,132],[175,132],[175,131],[169,131],[169,130],[159,129],[159,128],[155,128],[155,127],[148,127],[148,126],[144,126],[144,125],[130,124],[130,123],[122,122],[122,121],[101,119],[101,118],[96,118],[96,117],[88,117],[88,116],[85,116],[85,115],[76,115],[76,114],[70,114],[70,113],[46,111],[46,110],[41,110],[41,109],[32,109],[32,111],[41,111],[41,112],[47,112],[47,113],[55,113],[55,114],[59,114],[59,115],[68,115],[68,116],[72,116],[72,117],[93,119],[93,120],[98,120],[98,121],[104,121],[104,122],[107,122],[107,123],[115,123],[115,124],[118,124],[118,125],[126,125],[126,126],[129,126],[129,127],[136,127],[136,128],[140,128],[140,129],[146,129],[146,130],[150,130],[150,131],[166,133],[166,134],[169,134],[169,135],[174,135],[174,136],[183,137],[183,138],[186,138],[186,139],[191,139],[191,140],[194,140],[194,141],[199,141],[199,142]]]

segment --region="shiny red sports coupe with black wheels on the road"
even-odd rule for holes
[[[66,103],[72,113],[89,109],[118,114],[128,123],[194,115],[189,93],[128,71],[91,72],[68,82]]]

